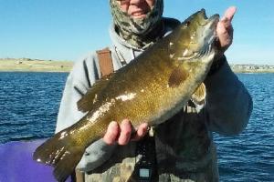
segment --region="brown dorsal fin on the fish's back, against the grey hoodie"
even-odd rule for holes
[[[103,78],[97,80],[94,85],[90,87],[87,93],[77,102],[79,111],[88,112],[91,110],[93,104],[97,101],[98,94],[109,83],[112,75],[113,74],[104,76]]]

